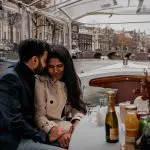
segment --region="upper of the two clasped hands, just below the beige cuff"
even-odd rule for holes
[[[49,134],[49,141],[53,142],[53,141],[57,140],[64,133],[65,133],[65,131],[62,128],[60,128],[59,126],[52,127],[50,130],[50,134]]]

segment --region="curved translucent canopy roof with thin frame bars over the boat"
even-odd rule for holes
[[[37,0],[35,0],[37,1]],[[89,15],[149,15],[150,0],[46,0],[36,11],[63,21],[76,21]]]

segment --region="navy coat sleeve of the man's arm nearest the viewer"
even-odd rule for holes
[[[18,137],[30,138],[43,142],[42,138],[25,120],[22,113],[22,83],[13,73],[4,75],[0,79],[0,127]]]

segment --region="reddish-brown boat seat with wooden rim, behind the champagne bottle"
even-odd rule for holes
[[[116,104],[124,101],[133,102],[141,94],[141,82],[146,81],[147,97],[150,95],[150,80],[148,76],[140,75],[118,75],[94,78],[89,81],[90,86],[118,89]],[[139,91],[139,92],[138,92]]]

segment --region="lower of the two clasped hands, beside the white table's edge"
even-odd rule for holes
[[[68,148],[70,139],[71,139],[71,134],[64,133],[60,136],[60,138],[58,139],[58,142],[60,143],[60,146],[62,148]]]

